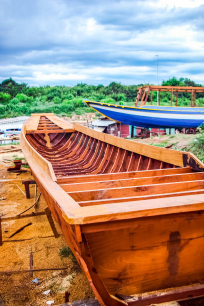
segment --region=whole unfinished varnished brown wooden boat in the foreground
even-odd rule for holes
[[[204,164],[196,156],[52,113],[32,114],[20,144],[101,305],[204,295]]]

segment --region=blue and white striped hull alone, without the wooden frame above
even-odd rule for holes
[[[130,107],[84,100],[106,117],[134,126],[143,127],[197,127],[204,122],[204,107],[171,107],[144,105]]]

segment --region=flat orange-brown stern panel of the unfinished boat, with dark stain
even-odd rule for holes
[[[109,292],[136,294],[204,281],[203,222],[204,211],[158,216],[86,239]]]

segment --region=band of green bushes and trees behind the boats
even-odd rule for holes
[[[32,112],[54,112],[59,116],[71,116],[72,113],[83,114],[94,111],[82,103],[83,99],[120,105],[134,105],[138,85],[122,85],[111,82],[109,85],[75,86],[28,86],[18,84],[11,78],[0,83],[0,118],[18,115],[30,115]],[[189,78],[173,77],[163,81],[162,85],[202,86]],[[161,92],[161,105],[170,105],[171,92]],[[153,92],[153,102],[157,101],[157,92]],[[176,102],[174,95],[173,103]],[[196,105],[204,106],[204,93],[196,94]],[[150,103],[150,97],[147,103]],[[191,93],[180,92],[178,105],[191,104]]]

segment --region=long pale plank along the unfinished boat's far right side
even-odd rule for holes
[[[147,157],[151,157],[154,159],[162,160],[162,161],[165,161],[171,164],[175,164],[181,167],[184,166],[183,154],[186,154],[187,156],[191,155],[191,153],[186,153],[186,152],[177,151],[177,150],[168,149],[168,148],[162,148],[162,147],[140,143],[140,142],[129,140],[129,139],[119,138],[119,137],[109,135],[106,133],[101,133],[89,127],[80,125],[78,123],[74,124],[74,128],[77,131],[85,133],[86,135],[89,135],[101,141],[105,141],[107,143],[113,144],[123,149],[129,150],[129,151],[132,151],[132,152],[135,152],[135,153],[147,156]],[[203,167],[204,167],[204,164],[203,164]]]

